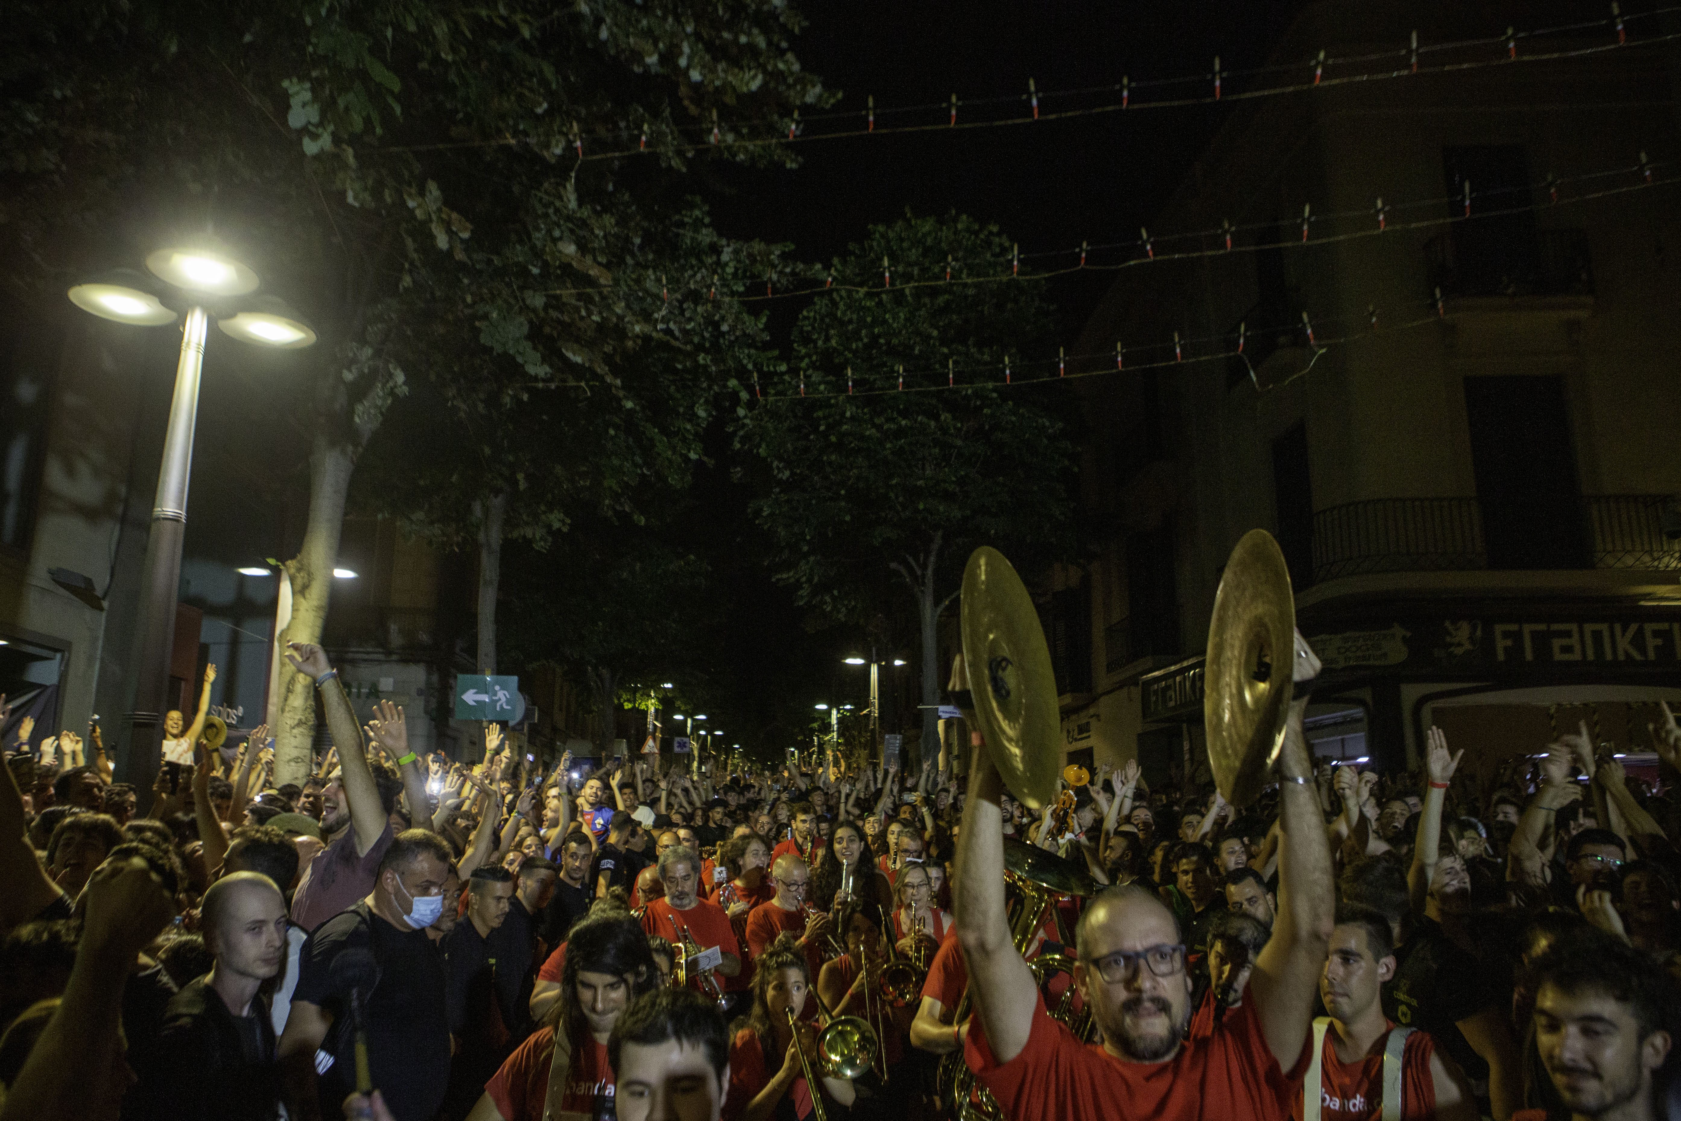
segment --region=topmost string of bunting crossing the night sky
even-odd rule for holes
[[[637,155],[684,153],[716,148],[740,150],[770,145],[788,145],[815,139],[842,139],[874,134],[955,131],[977,128],[1022,126],[1035,121],[1059,121],[1096,114],[1128,113],[1140,109],[1170,109],[1220,101],[1252,101],[1259,97],[1278,97],[1294,92],[1330,89],[1340,86],[1367,84],[1378,81],[1395,81],[1425,74],[1456,74],[1518,62],[1557,62],[1607,54],[1622,47],[1651,47],[1681,40],[1681,32],[1654,32],[1631,39],[1629,25],[1681,12],[1681,5],[1649,8],[1644,12],[1624,13],[1620,3],[1610,3],[1609,13],[1602,18],[1578,20],[1553,27],[1536,27],[1520,30],[1508,25],[1504,34],[1484,35],[1478,39],[1456,39],[1442,42],[1420,40],[1414,30],[1405,45],[1387,50],[1372,50],[1350,55],[1331,55],[1320,50],[1316,57],[1299,62],[1271,62],[1254,67],[1222,67],[1219,55],[1214,57],[1210,71],[1182,74],[1175,77],[1157,77],[1133,81],[1123,74],[1121,81],[1101,86],[1078,86],[1067,89],[1039,89],[1034,79],[1027,79],[1027,89],[1017,94],[1000,94],[988,97],[958,97],[950,101],[918,103],[904,106],[877,106],[874,94],[866,97],[866,104],[856,109],[837,109],[800,116],[798,109],[780,121],[738,121],[725,123],[716,109],[709,124],[699,126],[664,126],[651,133],[649,124],[627,128],[612,126],[595,131],[582,129],[577,121],[572,124],[566,146],[580,163],[595,160],[620,160]],[[1570,35],[1575,39],[1585,34],[1600,34],[1604,42],[1585,45],[1555,45],[1541,40]],[[1535,49],[1540,47],[1540,49]],[[1476,57],[1451,59],[1441,62],[1431,59],[1474,54]],[[1355,72],[1338,72],[1345,67],[1367,67]],[[1247,79],[1278,79],[1271,84],[1241,87]],[[1239,86],[1234,89],[1234,84]],[[1098,104],[1054,108],[1059,103],[1104,97]],[[1004,111],[1002,116],[987,116]],[[893,124],[891,121],[908,121]],[[605,150],[593,150],[585,143],[585,136],[605,139],[617,145]],[[382,151],[440,151],[451,148],[487,148],[516,146],[531,143],[523,138],[440,141],[430,145],[398,145]],[[560,150],[550,155],[560,155]]]

